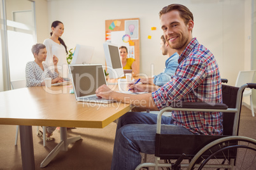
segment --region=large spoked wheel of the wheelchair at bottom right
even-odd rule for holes
[[[256,169],[256,140],[229,136],[212,141],[194,156],[188,169]]]

